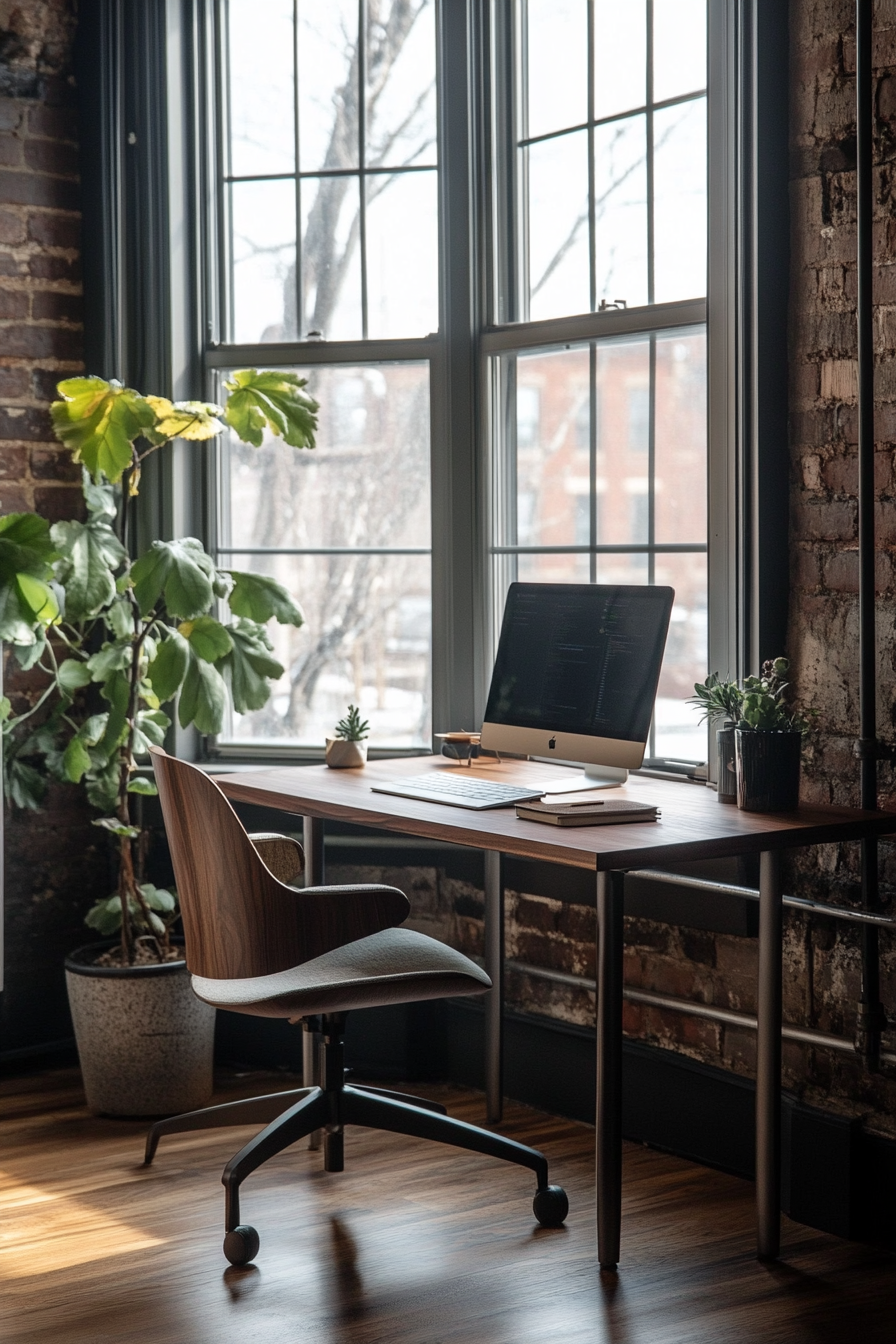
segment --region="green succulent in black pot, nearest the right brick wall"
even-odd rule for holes
[[[799,762],[807,723],[787,703],[787,659],[763,663],[743,684],[735,731],[737,806],[744,812],[794,812],[799,806]]]

